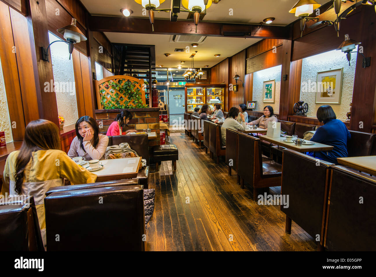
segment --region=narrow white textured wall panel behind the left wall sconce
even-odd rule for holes
[[[49,38],[50,43],[55,40],[61,40],[52,33],[49,33]],[[76,87],[74,85],[73,59],[69,59],[68,44],[56,42],[50,48],[59,116],[64,117],[64,126],[76,124],[78,119]],[[68,82],[68,85],[64,85],[63,89],[61,89],[60,84],[65,84],[66,82]],[[57,83],[59,83],[59,88]]]

